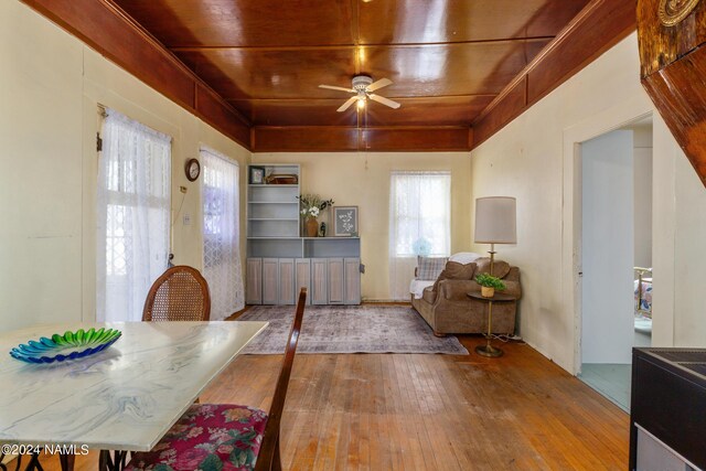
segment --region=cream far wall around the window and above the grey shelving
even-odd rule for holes
[[[451,251],[468,251],[470,159],[468,152],[278,152],[254,153],[253,163],[301,164],[301,191],[359,206],[364,300],[389,300],[389,179],[393,170],[451,172]],[[414,277],[414,268],[409,279]]]

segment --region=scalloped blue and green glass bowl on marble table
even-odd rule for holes
[[[117,329],[98,330],[78,329],[76,332],[66,331],[64,335],[55,333],[51,339],[30,340],[10,351],[10,356],[28,363],[54,363],[66,360],[83,358],[101,352],[113,345],[122,335]]]

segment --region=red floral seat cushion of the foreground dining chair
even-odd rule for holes
[[[253,470],[267,414],[229,404],[194,404],[149,452],[132,453],[126,471]]]

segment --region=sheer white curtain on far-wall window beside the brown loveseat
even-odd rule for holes
[[[417,256],[448,257],[451,248],[451,173],[392,172],[389,291],[409,299]]]

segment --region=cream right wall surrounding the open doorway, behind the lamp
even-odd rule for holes
[[[500,258],[522,270],[521,334],[573,373],[580,331],[576,143],[653,111],[652,255],[660,287],[653,345],[706,345],[706,299],[698,295],[697,275],[706,266],[706,213],[696,210],[706,207],[706,191],[642,89],[639,72],[633,33],[471,152],[472,196],[517,199],[517,245],[503,246]]]

